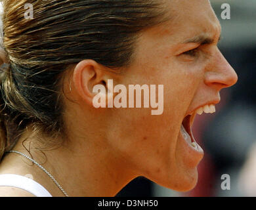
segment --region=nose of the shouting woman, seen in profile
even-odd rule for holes
[[[205,74],[205,84],[220,91],[223,88],[231,87],[237,81],[238,75],[218,49],[209,70]]]

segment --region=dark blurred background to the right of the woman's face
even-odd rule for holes
[[[223,3],[230,5],[230,20],[221,18]],[[203,114],[194,122],[194,137],[205,152],[198,184],[181,193],[139,177],[117,196],[256,196],[256,1],[212,0],[211,4],[222,26],[219,49],[239,79],[221,91],[216,114]],[[224,174],[230,176],[230,190],[221,188]]]

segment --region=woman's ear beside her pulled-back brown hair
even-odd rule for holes
[[[107,68],[95,62],[95,60],[82,60],[75,66],[73,74],[74,87],[78,95],[90,106],[93,106],[93,98],[97,93],[93,92],[96,85],[104,89],[102,98],[108,97],[108,79],[112,79],[106,71]]]

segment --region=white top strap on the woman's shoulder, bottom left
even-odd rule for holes
[[[53,197],[41,184],[20,175],[0,175],[0,186],[11,186],[30,192],[36,197]]]

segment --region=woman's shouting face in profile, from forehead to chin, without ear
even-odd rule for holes
[[[184,139],[182,124],[190,133],[196,110],[217,104],[219,91],[234,85],[237,75],[217,48],[221,26],[209,1],[171,1],[167,7],[173,18],[142,32],[133,62],[118,80],[126,87],[163,85],[163,114],[116,109],[108,139],[131,171],[182,191],[195,186],[203,158],[200,146]]]

